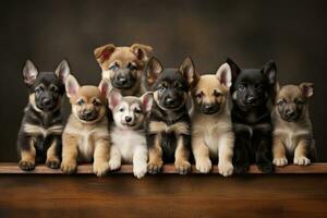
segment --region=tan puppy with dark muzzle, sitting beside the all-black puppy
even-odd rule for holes
[[[192,90],[192,149],[196,169],[207,173],[219,159],[219,173],[233,172],[234,135],[229,108],[231,69],[223,63],[216,75],[202,75]],[[210,160],[211,159],[211,160]]]

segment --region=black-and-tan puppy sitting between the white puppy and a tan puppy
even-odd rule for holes
[[[191,120],[186,101],[195,76],[190,58],[179,69],[162,69],[160,62],[152,58],[144,71],[143,84],[154,93],[154,105],[145,128],[149,173],[158,173],[164,161],[174,161],[175,170],[181,174],[191,170]]]

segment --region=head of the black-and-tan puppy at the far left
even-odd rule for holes
[[[38,72],[31,60],[23,69],[24,83],[28,87],[29,104],[37,111],[52,111],[60,107],[64,94],[64,81],[70,74],[66,60],[62,60],[55,73]]]

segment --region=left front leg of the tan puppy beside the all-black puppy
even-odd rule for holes
[[[195,158],[195,167],[202,173],[208,173],[211,170],[213,164],[209,158],[209,148],[204,144],[199,136],[192,138],[192,150]]]

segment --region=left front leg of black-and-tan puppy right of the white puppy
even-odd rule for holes
[[[147,138],[149,158],[147,171],[152,174],[160,172],[164,165],[161,138],[161,134],[148,135]]]

